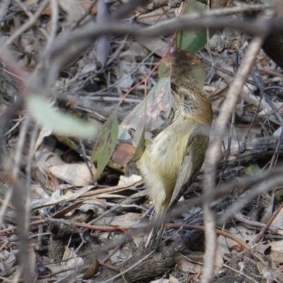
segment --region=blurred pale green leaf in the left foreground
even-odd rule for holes
[[[37,124],[52,129],[54,134],[81,139],[95,137],[98,134],[98,125],[61,112],[51,107],[42,97],[28,96],[27,106]]]

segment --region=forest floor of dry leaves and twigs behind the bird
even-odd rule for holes
[[[74,0],[70,4],[61,0],[56,16],[54,6],[45,2],[15,1],[2,7],[5,16],[1,17],[1,40],[10,38],[28,21],[33,26],[12,41],[11,55],[17,67],[2,64],[2,115],[7,115],[7,105],[14,96],[26,95],[21,83],[11,78],[23,70],[33,74],[42,62],[40,52],[51,48],[47,34],[60,37],[71,30],[89,7],[88,1]],[[115,11],[115,7],[110,9]],[[91,15],[97,13],[94,6]],[[129,23],[133,15],[123,21]],[[140,27],[150,27],[174,17],[175,9],[163,7],[134,21]],[[173,37],[101,38],[102,43],[93,42],[79,57],[71,58],[44,93],[62,112],[92,121],[98,132],[113,112],[122,127],[139,117],[139,112],[132,111],[156,86],[158,71],[152,70],[170,50]],[[209,45],[195,54],[205,71],[203,90],[212,103],[212,130],[249,41],[248,37],[243,40],[238,56],[218,54]],[[10,71],[15,71],[13,76]],[[221,194],[214,203],[219,229],[214,282],[283,282],[283,186],[278,181],[282,178],[283,154],[282,79],[282,70],[261,51],[222,142],[223,156],[215,180]],[[28,262],[35,282],[200,281],[205,250],[200,200],[203,171],[168,215],[166,241],[154,252],[144,248],[143,237],[152,226],[151,202],[134,163],[128,165],[135,148],[130,134],[127,139],[119,139],[111,161],[93,182],[98,169],[87,160],[97,136],[65,137],[30,121],[25,110],[18,111],[5,128],[2,142],[1,282],[18,282],[25,276],[26,267],[19,263],[23,260],[19,252],[23,245],[27,251],[23,261]],[[58,124],[67,127],[61,121]],[[16,179],[13,168],[18,168]],[[268,168],[273,170],[272,175],[266,173]],[[28,189],[23,184],[29,184]],[[7,196],[11,187],[15,198]],[[30,216],[24,213],[25,204],[30,205]],[[2,208],[6,208],[4,212]],[[186,229],[182,229],[184,225]],[[25,228],[28,241],[22,234]]]

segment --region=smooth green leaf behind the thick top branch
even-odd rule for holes
[[[202,12],[207,10],[207,5],[202,4],[195,0],[187,1],[185,7],[184,15],[190,13]],[[209,38],[216,33],[216,30],[209,30]],[[175,45],[180,50],[190,52],[192,54],[197,53],[207,44],[207,30],[197,30],[197,31],[185,31],[182,30],[177,33],[177,38]]]

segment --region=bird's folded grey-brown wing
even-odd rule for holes
[[[171,207],[173,202],[179,200],[183,185],[187,183],[190,185],[190,183],[197,177],[200,168],[202,168],[204,154],[208,143],[209,137],[207,134],[200,134],[200,132],[194,134],[192,132],[190,137],[188,137],[180,173],[175,183],[173,195],[168,207]]]

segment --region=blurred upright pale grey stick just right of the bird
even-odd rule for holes
[[[204,272],[202,275],[202,283],[212,282],[214,278],[214,262],[216,254],[216,223],[215,213],[211,207],[211,202],[214,199],[215,180],[216,180],[216,166],[221,158],[221,141],[224,137],[226,125],[229,122],[233,110],[241,95],[243,85],[248,77],[250,69],[253,67],[255,58],[260,52],[263,38],[254,37],[250,42],[246,56],[243,59],[241,66],[236,73],[235,79],[231,83],[229,92],[227,93],[226,100],[222,107],[219,117],[216,120],[215,129],[217,129],[217,136],[206,154],[204,162],[204,181],[203,181],[203,214],[204,214],[204,227],[205,227],[205,254],[204,254]]]

